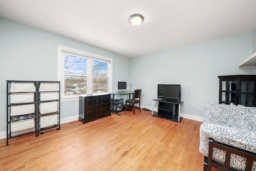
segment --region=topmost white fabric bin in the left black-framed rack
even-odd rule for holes
[[[35,92],[36,85],[34,83],[11,83],[10,93],[18,92]]]

